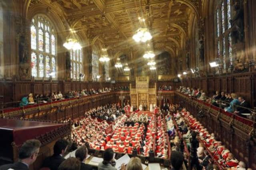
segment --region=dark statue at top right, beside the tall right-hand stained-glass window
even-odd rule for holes
[[[232,26],[231,35],[232,44],[236,44],[244,40],[244,10],[242,1],[234,0],[233,8],[233,17],[232,20],[230,20]]]

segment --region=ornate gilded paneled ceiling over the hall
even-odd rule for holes
[[[199,0],[37,0],[61,10],[68,25],[109,51],[139,51],[132,40],[138,17],[153,36],[154,51],[175,55],[188,36],[190,16],[198,17]]]

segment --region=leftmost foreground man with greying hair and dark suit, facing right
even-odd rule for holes
[[[0,166],[0,170],[28,170],[28,167],[33,164],[38,156],[41,142],[36,139],[27,140],[22,144],[19,150],[19,161],[13,164]]]

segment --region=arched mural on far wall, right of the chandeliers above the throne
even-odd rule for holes
[[[167,51],[160,53],[156,56],[157,73],[158,74],[170,74],[171,56]]]

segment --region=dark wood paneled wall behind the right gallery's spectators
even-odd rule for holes
[[[256,76],[254,72],[210,77],[189,77],[187,75],[181,82],[173,83],[174,88],[179,86],[203,89],[206,92],[206,96],[212,96],[216,90],[236,93],[245,97],[252,108],[256,107]]]

